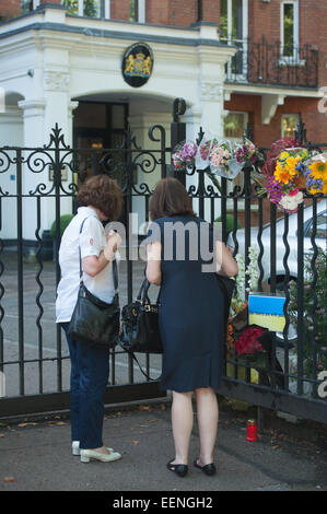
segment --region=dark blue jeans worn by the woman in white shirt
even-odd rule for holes
[[[80,448],[103,446],[103,395],[109,376],[109,349],[73,341],[67,334],[69,323],[61,323],[69,346],[71,439]]]

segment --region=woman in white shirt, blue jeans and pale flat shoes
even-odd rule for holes
[[[59,249],[61,280],[57,289],[56,320],[66,331],[71,360],[72,453],[80,455],[84,463],[91,458],[102,462],[121,458],[102,441],[109,350],[91,342],[73,341],[67,334],[80,287],[79,247],[85,287],[104,302],[110,303],[114,297],[112,261],[121,240],[116,232],[106,236],[102,222],[117,220],[121,202],[121,189],[116,180],[107,175],[89,178],[77,196],[80,207],[63,232]]]

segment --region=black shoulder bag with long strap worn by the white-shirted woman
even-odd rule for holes
[[[86,218],[85,218],[86,220]],[[83,221],[80,233],[83,230]],[[106,303],[92,294],[83,283],[83,270],[80,252],[80,290],[78,301],[68,326],[68,335],[75,341],[114,348],[117,344],[120,324],[118,296],[117,262],[113,260],[115,296],[112,303]]]

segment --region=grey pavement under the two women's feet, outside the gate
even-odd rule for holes
[[[179,478],[166,469],[174,456],[170,402],[118,409],[105,416],[104,442],[122,458],[106,464],[82,464],[71,455],[68,417],[1,423],[0,491],[327,491],[327,446],[270,430],[249,443],[245,418],[224,410],[217,476],[190,465],[187,477]],[[197,454],[195,416],[189,464]]]

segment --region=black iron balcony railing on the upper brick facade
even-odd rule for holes
[[[280,42],[222,39],[238,47],[226,65],[226,81],[233,83],[317,87],[318,50],[311,45],[282,47]]]

